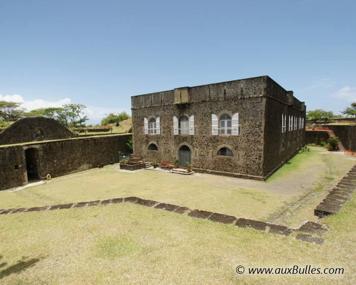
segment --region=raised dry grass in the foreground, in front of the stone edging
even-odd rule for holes
[[[321,246],[129,203],[1,215],[0,283],[354,284],[355,200]],[[294,265],[344,274],[248,274]]]

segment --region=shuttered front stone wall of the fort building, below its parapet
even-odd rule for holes
[[[172,163],[179,158],[179,147],[187,144],[192,150],[193,167],[217,172],[261,176],[262,155],[262,98],[176,104],[132,110],[134,155],[148,161]],[[212,113],[223,110],[239,112],[240,135],[213,136]],[[195,135],[173,135],[173,116],[194,115]],[[160,117],[161,134],[144,134],[143,118]],[[147,150],[155,143],[158,151]],[[235,150],[235,157],[217,157],[219,146]]]

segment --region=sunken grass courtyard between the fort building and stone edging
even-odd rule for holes
[[[348,156],[312,148],[292,158],[267,182],[207,174],[117,171],[118,165],[54,178],[19,191],[0,191],[0,209],[138,196],[158,202],[299,227],[315,220],[313,209],[350,169]],[[338,165],[332,170],[330,165]],[[316,168],[310,174],[308,167]],[[325,177],[330,176],[329,179]],[[300,201],[299,201],[300,200]],[[289,210],[290,209],[290,210]],[[290,214],[281,212],[291,211]]]

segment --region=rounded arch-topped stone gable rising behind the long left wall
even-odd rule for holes
[[[43,136],[36,137],[36,130],[40,130]],[[42,117],[23,118],[0,132],[0,145],[71,137],[75,137],[75,135],[54,119]]]

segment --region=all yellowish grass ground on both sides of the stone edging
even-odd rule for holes
[[[299,226],[355,160],[321,148],[295,156],[266,182],[180,176],[110,165],[1,191],[0,208],[138,196]],[[310,170],[312,169],[312,171]],[[0,215],[2,284],[353,284],[356,197],[322,245],[129,203]],[[235,268],[245,267],[244,274]],[[248,267],[338,267],[342,275],[258,275]]]

